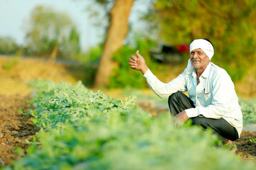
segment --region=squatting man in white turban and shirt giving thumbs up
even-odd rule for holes
[[[171,114],[178,120],[185,123],[189,118],[193,125],[212,128],[215,134],[228,139],[231,146],[242,132],[242,112],[228,73],[210,62],[213,54],[209,40],[193,40],[188,66],[167,84],[152,74],[139,50],[129,59],[129,65],[142,72],[156,95],[169,97]],[[189,98],[184,91],[188,91]]]

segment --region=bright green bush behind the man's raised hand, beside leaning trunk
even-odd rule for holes
[[[124,45],[120,50],[115,52],[113,60],[119,64],[119,67],[114,68],[112,77],[110,78],[110,88],[117,87],[136,87],[138,89],[147,86],[141,72],[134,71],[129,67],[129,57],[135,55],[139,50],[139,54],[144,57],[146,64],[154,71],[158,64],[151,60],[150,50],[156,43],[148,38],[137,38],[135,45]]]

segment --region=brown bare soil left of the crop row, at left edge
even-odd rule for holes
[[[31,117],[19,113],[20,108],[28,111],[26,100],[28,96],[0,96],[0,159],[4,164],[18,158],[14,151],[16,147],[26,152],[25,140],[30,140],[39,130],[31,125]]]

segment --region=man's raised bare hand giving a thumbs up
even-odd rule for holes
[[[146,66],[146,62],[144,60],[144,57],[142,57],[142,55],[139,55],[139,50],[136,51],[136,56],[132,55],[130,57],[129,65],[130,65],[131,69],[141,71],[142,74],[145,74],[146,71],[149,69]]]

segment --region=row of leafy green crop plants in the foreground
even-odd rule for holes
[[[44,127],[37,134],[41,145],[34,140],[23,159],[4,169],[255,169],[215,149],[218,138],[210,130],[175,128],[169,115],[152,118],[137,108],[134,97],[123,102],[80,82],[33,85],[30,113]]]

